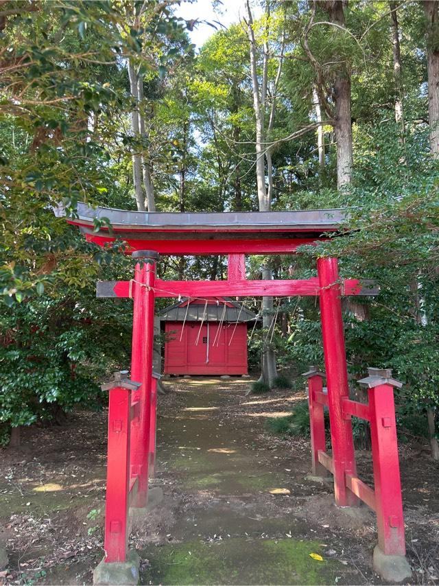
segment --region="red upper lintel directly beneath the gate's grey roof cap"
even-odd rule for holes
[[[86,234],[87,242],[105,246],[115,241],[115,237]],[[261,238],[261,239],[188,239],[155,240],[145,238],[126,238],[127,254],[133,250],[156,250],[161,255],[287,255],[296,252],[303,244],[316,244],[316,238]]]

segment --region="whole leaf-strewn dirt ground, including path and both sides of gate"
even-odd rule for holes
[[[335,508],[331,484],[307,480],[309,441],[264,430],[302,396],[246,396],[242,379],[166,384],[152,480],[164,497],[132,528],[142,584],[380,583],[370,567],[374,515]],[[0,540],[11,563],[0,582],[91,583],[102,559],[105,442],[106,414],[80,413],[3,451]],[[438,469],[422,455],[401,460],[414,583],[435,583]],[[370,482],[367,454],[359,469]]]

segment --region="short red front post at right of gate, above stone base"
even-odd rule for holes
[[[379,548],[384,554],[403,556],[404,517],[393,388],[382,384],[368,392]]]

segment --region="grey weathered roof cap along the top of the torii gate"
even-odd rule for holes
[[[125,233],[267,233],[306,232],[320,234],[325,231],[338,231],[346,220],[346,209],[317,209],[298,211],[269,212],[139,212],[115,208],[97,207],[78,203],[78,218],[67,218],[71,224],[88,232],[93,228],[95,218],[108,218],[115,232]],[[64,215],[62,210],[57,215]],[[99,230],[108,233],[108,230]]]

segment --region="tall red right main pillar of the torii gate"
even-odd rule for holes
[[[342,400],[349,396],[342,319],[342,291],[335,258],[317,261],[324,364],[327,373],[335,504],[354,506],[358,498],[346,487],[346,473],[357,476],[351,419],[344,419]]]

